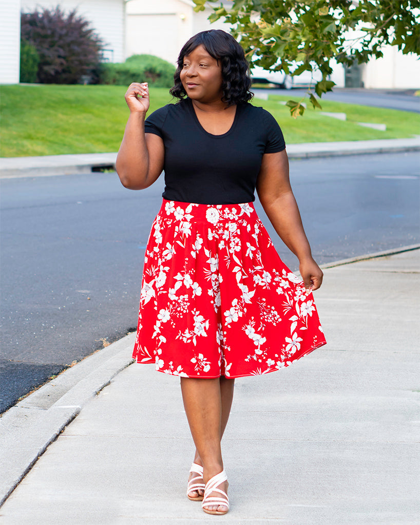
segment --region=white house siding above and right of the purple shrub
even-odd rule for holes
[[[2,0],[3,2],[3,0]],[[104,58],[110,62],[123,62],[124,51],[124,0],[22,0],[22,10],[30,12],[37,7],[51,8],[60,5],[66,12],[77,8],[77,13],[89,20],[91,27],[104,41]]]

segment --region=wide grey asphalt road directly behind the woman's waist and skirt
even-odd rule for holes
[[[419,241],[418,153],[292,161],[291,180],[320,264]],[[135,328],[162,189],[126,190],[114,173],[1,182],[1,411]]]

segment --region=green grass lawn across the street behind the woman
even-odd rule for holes
[[[124,86],[13,85],[1,87],[0,156],[59,155],[117,151],[129,110]],[[323,111],[344,112],[342,122],[309,107],[303,117],[290,117],[281,100],[288,96],[255,99],[279,122],[286,143],[342,140],[396,139],[420,134],[420,116],[387,110],[321,101]],[[151,88],[149,113],[171,102],[165,88]],[[307,101],[309,102],[309,100]],[[386,131],[362,128],[356,122],[386,124]]]

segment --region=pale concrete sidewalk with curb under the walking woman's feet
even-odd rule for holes
[[[419,263],[416,249],[325,269],[316,300],[328,345],[236,380],[223,440],[231,509],[220,520],[418,523]],[[185,496],[193,443],[179,381],[130,365],[132,344],[133,334],[5,413],[11,479],[60,411],[80,412],[6,500],[2,523],[218,520]]]

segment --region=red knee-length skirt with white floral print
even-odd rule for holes
[[[254,205],[163,200],[144,258],[133,357],[184,377],[288,366],[325,344],[312,292]]]

